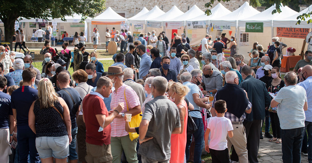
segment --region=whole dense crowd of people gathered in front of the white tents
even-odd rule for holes
[[[120,53],[106,70],[97,29],[90,54],[83,33],[73,52],[62,44],[63,58],[46,39],[42,70],[30,55],[15,59],[0,46],[0,160],[13,152],[11,161],[21,163],[201,163],[204,149],[212,162],[256,163],[265,122],[264,136],[282,144],[284,162],[300,162],[300,152],[312,161],[312,51],[283,80],[287,45],[278,38],[268,56],[256,42],[248,64],[235,37],[211,38],[196,52],[185,34],[169,44],[165,32],[134,41],[127,30],[107,29],[106,45],[116,41]]]

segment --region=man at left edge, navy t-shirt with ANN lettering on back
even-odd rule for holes
[[[2,92],[7,87],[6,85],[7,79],[0,76],[0,160],[3,162],[9,162],[9,155],[11,154],[10,143],[12,142],[15,127],[15,120],[11,109],[11,96]]]

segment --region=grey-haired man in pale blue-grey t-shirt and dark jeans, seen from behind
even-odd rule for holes
[[[300,162],[301,144],[305,133],[305,112],[308,110],[305,89],[297,83],[295,72],[287,72],[285,85],[271,101],[271,107],[277,107],[282,129],[283,162]],[[297,97],[297,98],[295,98]]]

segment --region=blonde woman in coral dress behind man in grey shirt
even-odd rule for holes
[[[179,109],[181,132],[179,134],[171,134],[171,157],[170,163],[184,162],[184,154],[186,147],[186,129],[188,122],[188,106],[184,100],[184,96],[190,91],[188,87],[178,82],[168,83],[168,96]]]

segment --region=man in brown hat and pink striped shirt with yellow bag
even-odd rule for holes
[[[119,102],[124,102],[124,110],[113,120],[111,124],[111,151],[113,155],[113,163],[120,163],[121,153],[124,151],[126,159],[129,163],[138,163],[136,154],[137,139],[130,140],[129,133],[125,130],[124,114],[132,114],[132,116],[141,113],[141,106],[138,95],[134,90],[126,84],[123,84],[124,72],[119,66],[108,67],[106,75],[113,82],[115,90],[112,93],[110,108],[118,106]],[[127,102],[126,102],[127,100]]]

